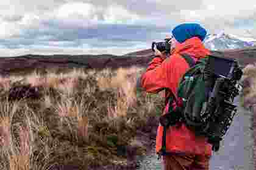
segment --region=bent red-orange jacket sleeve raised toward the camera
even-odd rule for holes
[[[158,93],[167,87],[168,60],[169,58],[163,60],[160,57],[155,57],[149,63],[146,72],[141,76],[141,86],[146,92]]]

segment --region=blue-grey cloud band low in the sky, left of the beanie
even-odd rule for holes
[[[169,28],[158,28],[156,26],[142,25],[115,25],[102,24],[94,28],[59,28],[59,25],[48,22],[48,29],[27,29],[16,38],[0,39],[9,49],[20,47],[38,46],[60,46],[60,47],[132,47],[140,43],[146,43],[149,39],[160,39],[161,33],[168,32]],[[44,23],[44,26],[46,24]],[[57,45],[52,45],[55,42]],[[60,42],[58,44],[58,42]],[[66,43],[61,43],[66,42]],[[69,42],[69,43],[68,43]]]

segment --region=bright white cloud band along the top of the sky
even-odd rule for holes
[[[176,22],[175,24],[183,21],[210,23],[213,20],[214,24],[221,22],[223,25],[233,25],[240,19],[255,21],[256,18],[256,4],[251,0],[28,0],[23,3],[10,0],[0,2],[0,10],[8,21],[19,21],[26,13],[34,13],[40,18],[43,18],[43,15],[51,15],[55,19],[62,18],[70,22],[80,21],[77,18],[84,19],[84,22],[90,20],[87,25],[92,21],[127,24],[127,22],[138,20],[140,22],[159,21],[165,24],[173,21]]]

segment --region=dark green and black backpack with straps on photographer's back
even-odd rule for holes
[[[238,81],[243,72],[233,59],[208,55],[195,63],[189,55],[181,56],[190,69],[181,78],[177,98],[173,94],[169,97],[169,110],[160,117],[163,138],[158,155],[168,154],[166,129],[178,122],[185,123],[196,135],[207,137],[216,152],[236,114],[233,100],[241,90]]]

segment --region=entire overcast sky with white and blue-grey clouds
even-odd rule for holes
[[[0,56],[123,55],[150,48],[184,22],[256,37],[252,0],[4,0],[0,11]]]

